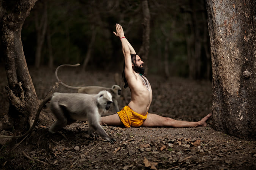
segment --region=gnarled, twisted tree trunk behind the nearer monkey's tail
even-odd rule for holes
[[[38,107],[38,98],[21,42],[22,26],[35,2],[36,0],[0,0],[0,34],[8,79],[6,91],[10,102],[8,113],[14,118],[16,128],[26,127],[28,117]]]

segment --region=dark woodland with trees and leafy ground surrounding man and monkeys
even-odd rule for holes
[[[149,113],[207,127],[103,125],[110,144],[77,121],[55,134],[46,105],[25,138],[0,138],[0,169],[256,169],[254,0],[0,0],[0,135],[24,134],[58,76],[72,86],[120,85],[115,24],[144,61]],[[249,24],[250,23],[250,24]],[[221,30],[221,31],[220,31]],[[76,93],[59,85],[55,91]],[[112,106],[103,116],[115,113]]]

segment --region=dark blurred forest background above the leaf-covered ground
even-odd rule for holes
[[[148,4],[150,40],[145,65],[149,73],[210,80],[204,0],[149,0]],[[85,70],[120,72],[123,56],[119,39],[112,33],[115,23],[123,26],[139,54],[142,8],[137,0],[38,1],[22,27],[27,64],[53,68],[81,63]]]

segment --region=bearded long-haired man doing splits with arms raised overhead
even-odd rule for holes
[[[149,81],[144,76],[143,61],[135,53],[133,47],[125,38],[121,25],[115,25],[115,36],[120,38],[123,55],[125,57],[125,68],[123,79],[125,87],[129,86],[131,101],[116,114],[101,117],[101,124],[125,125],[125,127],[197,127],[206,126],[206,121],[212,115],[208,114],[201,121],[186,122],[177,121],[169,117],[148,113],[152,102],[152,89]]]

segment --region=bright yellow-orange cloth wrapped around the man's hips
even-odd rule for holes
[[[139,127],[143,124],[144,120],[147,118],[147,114],[145,116],[134,112],[131,110],[129,106],[125,106],[117,112],[118,116],[120,117],[121,121],[125,125],[125,127]]]

